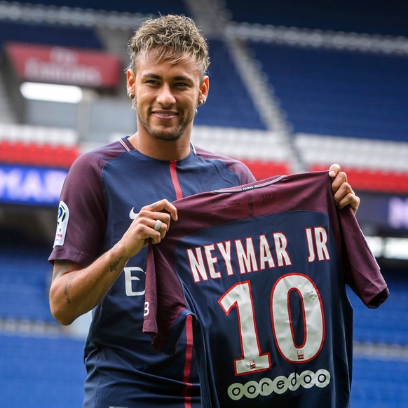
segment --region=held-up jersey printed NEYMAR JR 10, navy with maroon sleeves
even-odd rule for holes
[[[144,332],[165,353],[193,319],[203,407],[349,406],[353,311],[388,297],[327,172],[274,177],[175,202],[149,247]]]

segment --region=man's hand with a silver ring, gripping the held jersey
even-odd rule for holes
[[[137,213],[128,230],[115,245],[121,247],[128,258],[135,256],[151,239],[154,244],[159,243],[167,233],[170,219],[177,221],[177,209],[168,200],[160,200],[144,206]],[[160,229],[156,230],[156,221],[161,221]]]

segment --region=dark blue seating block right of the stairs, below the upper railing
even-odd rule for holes
[[[407,141],[406,58],[261,42],[250,47],[294,132]]]

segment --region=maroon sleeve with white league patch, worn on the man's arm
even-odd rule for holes
[[[60,213],[64,211],[64,219]],[[62,186],[57,236],[48,258],[67,259],[81,266],[92,263],[98,251],[104,231],[104,191],[101,179],[100,158],[95,154],[83,154],[69,169]]]

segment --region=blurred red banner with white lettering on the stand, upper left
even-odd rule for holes
[[[121,60],[97,50],[7,43],[6,53],[24,81],[114,88],[121,79]]]

